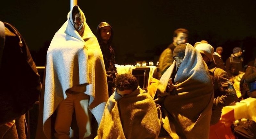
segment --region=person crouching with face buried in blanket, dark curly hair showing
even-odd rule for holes
[[[156,107],[152,97],[138,88],[137,79],[131,74],[118,75],[115,87],[105,107],[96,138],[156,139],[161,124],[157,111],[159,107]]]

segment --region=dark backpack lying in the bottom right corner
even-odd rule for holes
[[[236,120],[231,125],[232,132],[237,139],[256,139],[256,123],[249,119]]]

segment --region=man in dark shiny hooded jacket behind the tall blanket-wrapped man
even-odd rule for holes
[[[111,47],[111,43],[113,40],[113,29],[111,25],[107,22],[101,22],[97,27],[96,37],[98,39],[99,46],[103,54],[110,97],[114,92],[115,78],[117,75],[115,67],[115,52],[114,49]]]

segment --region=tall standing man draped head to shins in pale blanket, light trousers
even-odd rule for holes
[[[78,133],[74,132],[74,136],[93,138],[97,129],[92,127],[98,127],[108,100],[103,56],[97,38],[77,5],[67,18],[47,51],[43,132],[46,138],[54,134],[56,139],[68,139],[71,123],[76,119]],[[54,111],[56,119],[52,116]],[[55,131],[51,131],[50,123],[54,120]]]

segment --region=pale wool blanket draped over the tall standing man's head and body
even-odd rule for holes
[[[54,35],[47,51],[42,92],[44,100],[40,104],[43,105],[40,107],[43,109],[42,125],[39,125],[43,126],[47,138],[53,134],[54,119],[51,116],[59,103],[67,97],[67,90],[90,96],[88,107],[98,124],[108,100],[106,71],[99,43],[85,22],[83,12],[78,9],[83,21],[82,29],[79,33],[76,31],[71,10],[68,20]],[[43,138],[43,135],[38,138]]]

